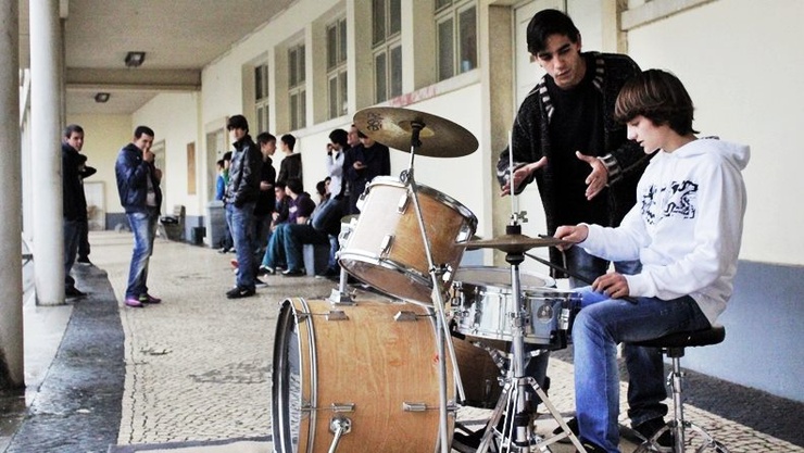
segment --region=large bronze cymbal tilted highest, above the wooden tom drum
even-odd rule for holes
[[[461,158],[477,150],[477,139],[462,126],[429,113],[377,106],[354,114],[354,125],[367,137],[389,148],[411,152],[414,127],[420,127],[416,154]]]

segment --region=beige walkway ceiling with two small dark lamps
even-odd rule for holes
[[[29,66],[20,0],[21,66]],[[201,70],[296,0],[60,0],[68,114],[128,114],[164,91],[198,90]],[[145,51],[127,68],[129,51]],[[95,102],[99,91],[106,103]]]

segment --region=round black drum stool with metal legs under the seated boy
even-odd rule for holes
[[[673,363],[673,370],[667,376],[667,383],[670,386],[673,391],[673,406],[674,416],[673,419],[667,421],[667,425],[659,429],[650,439],[643,442],[635,453],[649,453],[649,452],[661,452],[667,451],[656,444],[656,439],[659,438],[666,430],[669,430],[673,435],[673,452],[683,453],[684,452],[684,430],[693,430],[696,435],[701,436],[703,443],[695,450],[695,452],[702,452],[706,449],[712,449],[718,453],[729,453],[729,451],[720,442],[709,436],[703,428],[694,425],[691,421],[684,419],[683,415],[683,377],[686,373],[681,372],[681,357],[684,355],[684,348],[688,347],[705,347],[708,344],[717,344],[726,338],[726,329],[723,326],[712,326],[705,330],[693,330],[666,335],[661,338],[645,341],[637,341],[631,344],[649,348],[659,348],[662,353],[667,354]]]

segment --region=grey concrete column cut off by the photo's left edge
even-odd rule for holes
[[[23,370],[22,185],[20,183],[18,0],[0,0],[0,389],[25,386]]]

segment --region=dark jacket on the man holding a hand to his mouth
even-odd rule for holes
[[[142,150],[134,143],[128,143],[120,150],[117,162],[114,164],[117,177],[117,193],[126,214],[148,212],[148,178],[151,179],[156,196],[156,210],[162,205],[162,189],[156,177],[156,167],[153,162],[142,159]]]

